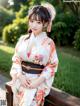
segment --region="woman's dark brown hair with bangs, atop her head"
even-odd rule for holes
[[[33,17],[34,20],[39,20],[42,23],[49,22],[51,19],[50,13],[48,12],[46,7],[41,5],[34,6],[29,10],[28,14],[29,19]]]

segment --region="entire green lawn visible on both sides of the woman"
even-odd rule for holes
[[[7,73],[11,68],[14,47],[0,45],[0,70]],[[80,97],[80,52],[72,48],[57,48],[59,67],[54,87]]]

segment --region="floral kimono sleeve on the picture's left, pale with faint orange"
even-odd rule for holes
[[[14,75],[17,75],[18,73],[22,72],[21,69],[21,58],[19,56],[18,53],[18,47],[20,46],[21,42],[22,42],[23,36],[21,36],[15,46],[15,52],[14,55],[12,57],[12,67],[10,70],[10,75],[11,77],[13,77]]]

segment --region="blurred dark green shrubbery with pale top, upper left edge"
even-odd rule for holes
[[[2,36],[3,28],[12,23],[12,20],[15,18],[15,14],[0,6],[0,36]]]

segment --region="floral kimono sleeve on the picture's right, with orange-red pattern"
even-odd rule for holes
[[[50,57],[48,60],[48,64],[43,69],[43,72],[41,73],[41,75],[45,77],[46,80],[53,78],[55,75],[55,72],[57,72],[57,68],[58,68],[58,56],[57,56],[55,44],[52,41],[50,43]]]

